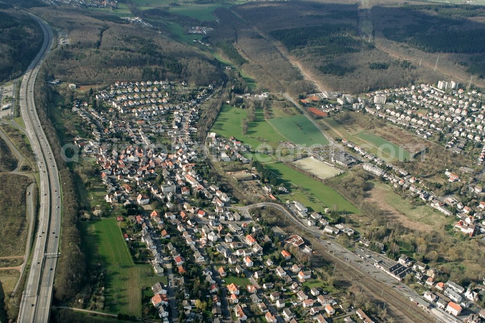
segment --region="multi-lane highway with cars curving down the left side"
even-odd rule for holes
[[[40,209],[31,268],[22,293],[18,314],[17,322],[21,323],[49,322],[62,210],[59,172],[49,141],[41,127],[33,96],[37,73],[52,47],[54,37],[52,30],[44,20],[31,16],[41,26],[44,42],[23,76],[19,103],[26,133],[39,170]]]

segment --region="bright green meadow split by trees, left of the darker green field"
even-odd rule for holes
[[[210,131],[226,138],[235,136],[244,144],[251,145],[253,148],[262,143],[277,147],[280,141],[285,141],[285,138],[276,133],[273,127],[264,120],[263,111],[260,109],[256,110],[256,120],[249,123],[248,131],[243,135],[241,121],[246,117],[247,110],[225,104]]]

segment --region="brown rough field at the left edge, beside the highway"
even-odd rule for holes
[[[32,180],[0,173],[0,257],[23,255],[29,223],[25,191]]]

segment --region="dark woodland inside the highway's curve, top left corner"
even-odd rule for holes
[[[28,15],[0,10],[0,82],[20,76],[42,40],[40,26]]]

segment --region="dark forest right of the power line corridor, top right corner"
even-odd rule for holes
[[[375,30],[386,38],[424,52],[451,53],[450,58],[464,65],[468,73],[484,78],[485,43],[477,41],[485,38],[483,6],[374,6],[371,11]]]

